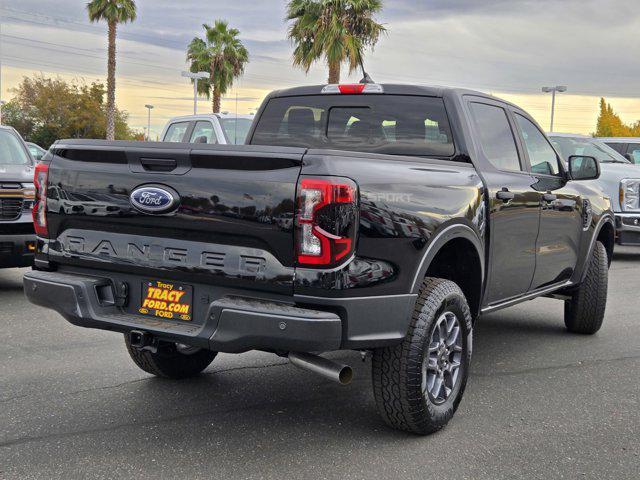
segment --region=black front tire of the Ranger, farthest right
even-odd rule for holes
[[[593,335],[604,321],[609,283],[607,250],[596,242],[582,284],[564,302],[564,324],[573,333]]]

